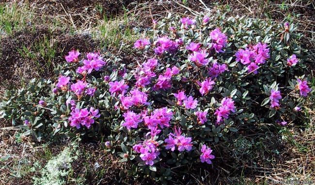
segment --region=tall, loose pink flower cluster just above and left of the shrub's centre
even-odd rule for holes
[[[157,59],[150,58],[136,69],[135,78],[137,80],[136,85],[138,87],[146,86],[151,83],[151,78],[156,76],[154,70],[157,64]]]

